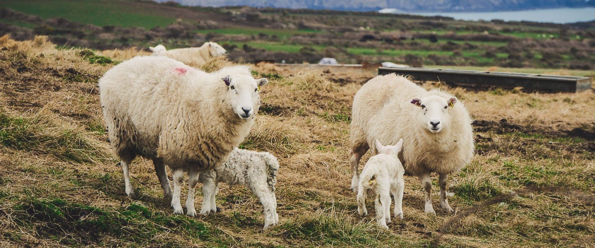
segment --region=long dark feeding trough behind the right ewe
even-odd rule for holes
[[[525,90],[537,92],[580,92],[591,89],[590,77],[415,67],[378,68],[378,75],[390,73],[408,75],[412,80],[440,81],[452,86],[480,89],[523,87]]]

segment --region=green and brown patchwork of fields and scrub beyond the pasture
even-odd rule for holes
[[[236,62],[342,63],[593,70],[593,23],[455,21],[414,15],[182,7],[150,1],[3,1],[0,34],[49,36],[60,46],[148,51],[223,45]],[[70,11],[76,10],[76,11]],[[587,73],[595,74],[595,73]]]

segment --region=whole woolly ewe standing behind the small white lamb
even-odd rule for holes
[[[405,172],[425,189],[425,212],[436,214],[431,203],[430,173],[439,174],[440,206],[451,212],[446,199],[448,175],[471,161],[474,149],[471,117],[463,103],[438,89],[424,90],[405,77],[388,74],[366,83],[353,99],[350,133],[351,187],[358,183],[358,164],[374,140],[407,140],[399,158]]]

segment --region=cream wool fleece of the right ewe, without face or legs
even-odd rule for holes
[[[405,77],[388,74],[377,76],[356,93],[350,142],[352,146],[367,143],[376,153],[374,140],[383,144],[405,141],[403,167],[408,174],[427,172],[450,174],[471,161],[474,139],[471,117],[462,102],[449,109],[448,125],[439,133],[429,133],[415,123],[415,111],[421,108],[411,103],[413,98],[437,95],[451,96],[441,90],[424,90]]]

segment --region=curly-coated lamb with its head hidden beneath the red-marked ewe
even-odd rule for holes
[[[202,172],[198,177],[202,183],[201,214],[217,212],[215,194],[219,183],[228,185],[240,184],[248,187],[264,208],[264,229],[279,222],[277,215],[277,200],[275,199],[275,184],[277,183],[277,158],[268,152],[253,152],[250,150],[233,149],[230,158],[221,167]],[[193,196],[193,194],[190,194]],[[186,208],[194,200],[186,203]]]

